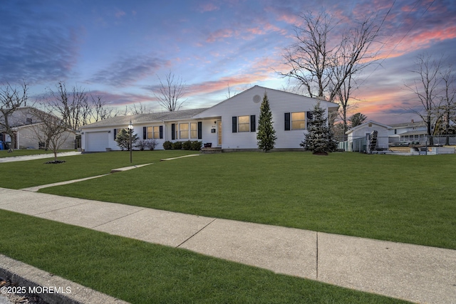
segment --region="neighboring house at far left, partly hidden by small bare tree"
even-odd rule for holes
[[[16,137],[14,149],[38,149],[43,147],[43,143],[40,143],[37,136],[39,125],[42,122],[37,119],[36,115],[33,115],[33,111],[36,111],[36,109],[31,107],[19,108],[9,117],[9,125]],[[66,140],[60,149],[74,149],[75,138],[76,133],[68,130]],[[11,138],[1,127],[0,142],[11,142]],[[4,148],[5,145],[1,145],[1,147]]]

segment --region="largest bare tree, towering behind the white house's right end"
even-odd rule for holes
[[[302,14],[303,26],[295,26],[296,42],[286,48],[284,58],[290,70],[279,73],[297,80],[306,95],[341,105],[347,130],[348,102],[355,85],[354,75],[375,62],[373,43],[380,36],[381,23],[371,16],[356,21],[351,28],[321,11]]]

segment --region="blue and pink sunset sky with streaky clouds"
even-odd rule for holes
[[[453,0],[2,1],[0,85],[25,79],[33,101],[61,80],[113,107],[160,112],[153,90],[171,71],[187,85],[182,109],[205,108],[226,99],[228,85],[232,94],[286,87],[276,71],[286,72],[294,25],[321,9],[342,22],[386,16],[380,65],[361,75],[354,111],[385,124],[416,120],[403,110],[416,103],[404,84],[418,54],[456,62]]]

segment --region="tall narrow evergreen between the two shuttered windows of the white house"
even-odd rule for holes
[[[259,108],[259,122],[258,122],[258,148],[264,152],[268,152],[274,149],[274,143],[276,142],[276,131],[272,126],[272,112],[269,107],[269,100],[266,93],[264,93],[263,102]]]

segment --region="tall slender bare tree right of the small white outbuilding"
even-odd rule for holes
[[[415,108],[407,110],[421,117],[425,122],[427,135],[434,135],[437,131],[437,123],[442,118],[441,67],[442,58],[436,60],[429,54],[420,54],[415,61],[415,70],[412,70],[418,78],[413,80],[413,84],[405,85],[405,88],[418,98],[419,103]],[[432,145],[432,137],[430,138],[430,145]]]

